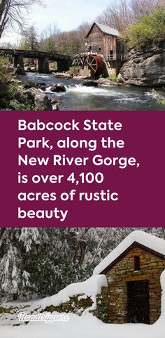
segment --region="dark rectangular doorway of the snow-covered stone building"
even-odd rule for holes
[[[149,281],[127,282],[128,323],[150,324]]]

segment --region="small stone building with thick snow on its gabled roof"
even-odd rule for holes
[[[161,313],[164,268],[165,240],[143,231],[127,236],[94,269],[94,275],[106,275],[108,281],[108,290],[102,288],[106,322],[155,323]]]

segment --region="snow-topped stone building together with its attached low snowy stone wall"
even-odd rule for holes
[[[2,325],[18,325],[22,309],[27,314],[92,313],[105,323],[157,322],[164,330],[165,240],[143,231],[132,232],[94,268],[88,280],[68,285],[44,299],[0,304]]]

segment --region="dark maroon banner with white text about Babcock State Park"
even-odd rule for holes
[[[52,122],[57,127],[75,120],[79,122],[79,130],[18,130],[18,120],[26,120],[28,124],[37,119],[44,124]],[[85,120],[91,121],[89,131],[83,129]],[[120,122],[122,130],[95,130],[93,121],[96,128],[103,127],[100,122],[108,128],[107,122],[111,121],[111,129]],[[162,111],[1,112],[0,226],[164,226],[164,126]],[[42,140],[43,143],[38,143],[37,148],[28,148],[27,144],[18,148],[18,138],[22,138],[22,143],[24,139]],[[68,141],[96,140],[97,148],[89,150],[89,143],[88,148],[57,148],[57,141],[66,141],[66,138]],[[124,148],[103,148],[102,138],[115,142],[123,140]],[[44,140],[49,140],[52,150]],[[28,144],[33,146],[34,141]],[[41,148],[44,144],[45,148]],[[95,156],[98,165],[93,162]],[[49,159],[47,165],[40,165],[43,157]],[[88,160],[84,160],[85,157]],[[127,158],[126,167],[124,160],[112,160],[121,157]],[[132,163],[131,157],[139,167],[128,164]],[[54,162],[54,158],[61,160]],[[19,160],[21,165],[18,165]],[[103,165],[99,165],[101,161]],[[19,200],[20,193],[26,193],[27,200]],[[38,200],[28,200],[29,193],[32,193],[30,198],[35,195]],[[61,200],[63,193],[69,200]],[[50,200],[50,196],[55,200]],[[53,216],[42,218],[45,210],[47,216]]]

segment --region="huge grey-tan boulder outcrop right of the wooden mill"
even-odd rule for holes
[[[138,51],[131,49],[119,80],[135,86],[165,86],[165,43]]]

